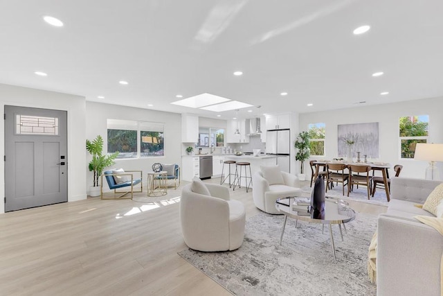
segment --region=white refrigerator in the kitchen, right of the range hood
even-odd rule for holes
[[[291,173],[291,131],[268,130],[266,132],[266,154],[276,155],[280,170]]]

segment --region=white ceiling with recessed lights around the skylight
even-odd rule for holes
[[[208,93],[272,114],[430,98],[442,15],[441,0],[0,0],[0,82],[213,118],[170,103]]]

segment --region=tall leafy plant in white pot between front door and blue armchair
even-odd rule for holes
[[[98,177],[102,175],[103,170],[107,166],[115,164],[118,152],[111,155],[102,155],[103,153],[103,139],[100,134],[92,141],[86,140],[86,150],[92,155],[92,160],[89,162],[89,171],[93,172],[93,186],[89,188],[89,196],[100,195],[100,186],[98,186]]]

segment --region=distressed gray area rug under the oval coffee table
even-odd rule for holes
[[[257,214],[246,222],[244,243],[233,252],[183,250],[179,255],[234,295],[376,295],[366,272],[368,246],[377,216],[357,213],[346,224],[344,241],[332,225],[337,263],[329,231],[321,225],[284,216]]]

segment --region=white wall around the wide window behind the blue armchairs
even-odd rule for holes
[[[105,151],[107,151],[107,119],[165,123],[165,156],[146,157],[143,159],[116,159],[116,164],[113,166],[114,168],[123,168],[125,170],[143,170],[143,186],[145,186],[147,176],[146,173],[148,171],[152,171],[152,164],[156,162],[165,164],[177,163],[181,166],[181,114],[87,102],[86,137],[87,139],[94,139],[98,134],[100,134],[105,141]],[[91,155],[87,155],[84,173],[87,174],[85,186],[87,186],[88,189],[93,183],[93,174],[89,172],[87,167],[87,163],[89,163],[90,160]]]

